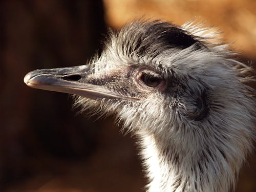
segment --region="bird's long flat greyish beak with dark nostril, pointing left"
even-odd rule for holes
[[[69,93],[94,100],[104,98],[139,100],[119,95],[104,86],[92,84],[88,81],[88,76],[92,76],[90,66],[42,69],[29,72],[24,77],[24,82],[31,88]]]

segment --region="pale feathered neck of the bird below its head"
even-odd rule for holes
[[[182,154],[153,134],[140,136],[141,155],[150,180],[148,192],[233,191],[236,176],[226,161],[222,163],[214,157],[203,159],[194,150]]]

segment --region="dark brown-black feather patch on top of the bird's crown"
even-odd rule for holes
[[[154,58],[172,48],[186,49],[194,46],[198,50],[205,47],[202,41],[178,26],[159,20],[134,21],[121,29],[117,39],[125,55],[136,54],[140,57],[147,55]]]

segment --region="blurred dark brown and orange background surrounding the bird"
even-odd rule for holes
[[[76,115],[67,94],[30,89],[24,75],[82,65],[100,52],[108,27],[143,15],[217,26],[240,60],[255,65],[255,8],[254,0],[1,1],[0,191],[142,191],[135,141],[113,118]],[[256,191],[255,170],[252,156],[238,191]]]

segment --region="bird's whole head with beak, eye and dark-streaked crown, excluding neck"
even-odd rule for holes
[[[24,81],[78,95],[76,104],[83,108],[117,113],[129,131],[176,127],[181,132],[184,123],[200,127],[209,113],[223,110],[221,98],[237,99],[228,88],[238,84],[223,63],[228,60],[198,39],[172,24],[135,22],[111,34],[102,55],[89,65],[36,70]]]

